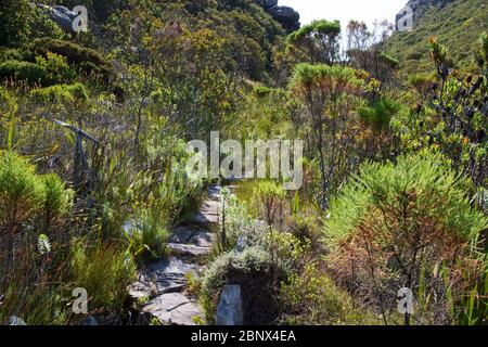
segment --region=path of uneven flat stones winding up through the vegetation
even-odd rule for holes
[[[188,273],[200,277],[202,264],[211,252],[219,223],[220,187],[210,185],[193,223],[177,228],[169,237],[171,257],[152,264],[138,273],[129,287],[133,299],[149,298],[142,312],[157,318],[163,324],[195,325],[195,317],[203,319],[202,308],[194,297],[185,294]]]

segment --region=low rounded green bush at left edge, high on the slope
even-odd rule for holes
[[[29,86],[49,85],[46,67],[29,62],[7,61],[0,64],[0,80],[26,81]]]

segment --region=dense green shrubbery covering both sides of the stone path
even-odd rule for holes
[[[486,323],[486,34],[470,73],[423,38],[407,53],[429,49],[434,74],[403,86],[387,25],[351,22],[343,54],[339,23],[286,40],[251,1],[82,3],[79,35],[0,4],[0,322],[82,323],[85,287],[88,314],[123,323],[136,268],[200,205],[185,144],[219,130],[303,139],[304,184],[221,191],[220,242],[188,275],[208,322],[241,284],[246,323]]]

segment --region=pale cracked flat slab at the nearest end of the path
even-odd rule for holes
[[[195,317],[203,318],[201,308],[180,293],[163,294],[142,308],[163,324],[196,325]]]

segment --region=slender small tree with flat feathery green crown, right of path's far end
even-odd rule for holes
[[[342,66],[298,64],[291,90],[306,108],[305,119],[314,134],[321,175],[321,206],[328,207],[338,171],[347,171],[348,146],[354,142],[350,112],[355,95],[364,87],[359,70]]]

